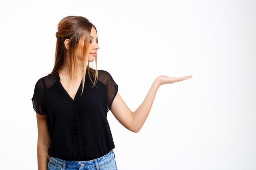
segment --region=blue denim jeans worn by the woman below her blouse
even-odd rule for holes
[[[65,161],[50,157],[48,170],[117,170],[114,151],[90,161]]]

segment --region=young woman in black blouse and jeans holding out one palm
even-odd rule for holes
[[[56,38],[54,68],[36,82],[32,97],[38,125],[38,170],[117,170],[107,112],[111,110],[128,130],[139,132],[159,86],[192,76],[157,77],[132,112],[110,73],[97,70],[97,30],[88,19],[63,18]],[[96,69],[89,66],[94,60]]]

